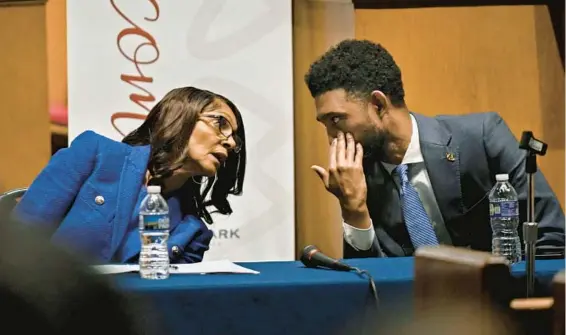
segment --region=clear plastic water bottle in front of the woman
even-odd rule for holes
[[[148,186],[140,204],[140,276],[144,279],[169,278],[169,206],[161,196],[161,186]]]

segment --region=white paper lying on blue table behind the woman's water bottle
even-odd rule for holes
[[[139,272],[140,266],[138,264],[105,264],[93,265],[92,268],[99,274],[117,274],[126,272]],[[172,264],[169,270],[171,274],[177,273],[192,273],[192,274],[207,274],[207,273],[247,273],[259,274],[258,271],[236,265],[229,260],[209,261],[192,264]]]

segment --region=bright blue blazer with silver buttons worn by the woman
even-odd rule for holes
[[[54,244],[89,258],[135,261],[141,249],[136,210],[149,154],[149,146],[130,146],[86,131],[51,158],[13,215],[52,232]],[[212,232],[199,218],[183,216],[177,199],[168,203],[171,261],[200,262]]]

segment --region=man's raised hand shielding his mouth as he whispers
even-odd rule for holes
[[[344,136],[338,132],[337,138],[330,144],[329,156],[328,171],[317,165],[311,168],[326,189],[338,198],[344,221],[358,229],[370,228],[362,145],[355,143],[350,133]]]

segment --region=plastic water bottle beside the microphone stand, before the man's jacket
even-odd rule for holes
[[[506,257],[510,263],[521,260],[519,227],[519,200],[509,183],[509,175],[495,176],[497,183],[489,192],[489,217],[493,231],[492,253]]]

